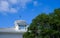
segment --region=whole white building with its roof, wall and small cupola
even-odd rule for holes
[[[27,31],[26,25],[24,20],[17,20],[13,28],[0,28],[0,38],[23,38],[23,33]],[[24,29],[19,29],[20,26],[24,26]]]

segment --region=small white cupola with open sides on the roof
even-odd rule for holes
[[[26,30],[27,23],[25,20],[16,20],[15,21],[15,29],[16,30]]]

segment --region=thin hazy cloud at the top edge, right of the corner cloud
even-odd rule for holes
[[[8,0],[11,4],[18,4],[21,8],[26,8],[26,4],[32,0]]]

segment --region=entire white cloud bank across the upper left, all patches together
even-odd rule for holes
[[[17,13],[18,9],[16,9],[17,7],[13,8],[13,5],[18,4],[19,9],[26,8],[27,3],[31,1],[32,0],[0,0],[0,12]]]

